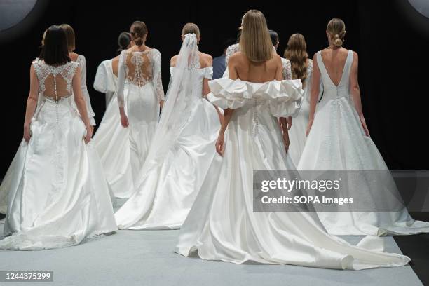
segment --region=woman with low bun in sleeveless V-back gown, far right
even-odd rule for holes
[[[313,57],[308,137],[298,169],[362,170],[357,180],[350,177],[353,185],[344,188],[340,195],[354,197],[356,202],[353,205],[357,205],[359,200],[374,203],[376,207],[372,212],[351,207],[350,211],[318,212],[321,222],[329,233],[344,236],[429,232],[429,222],[415,221],[403,205],[400,211],[388,211],[390,206],[396,207],[395,201],[400,194],[379,150],[369,137],[357,81],[357,53],[342,47],[346,27],[341,19],[330,20],[326,32],[329,47]],[[323,98],[316,106],[319,93],[316,83],[320,79]],[[383,176],[374,179],[368,177],[371,173]]]

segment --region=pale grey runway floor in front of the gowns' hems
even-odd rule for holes
[[[3,233],[3,224],[0,224],[0,233]],[[177,233],[118,231],[111,236],[57,250],[0,251],[0,271],[53,271],[54,282],[36,283],[51,286],[423,285],[411,266],[339,271],[299,266],[236,265],[182,257],[173,252]],[[345,238],[350,243],[361,239]],[[388,252],[401,253],[392,237],[385,239]],[[427,262],[427,257],[425,259]],[[0,285],[11,283],[0,282]],[[14,285],[34,285],[34,282]]]

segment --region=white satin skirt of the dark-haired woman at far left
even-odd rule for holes
[[[100,159],[70,101],[42,103],[0,186],[8,190],[4,234],[12,234],[2,250],[67,247],[117,229]]]

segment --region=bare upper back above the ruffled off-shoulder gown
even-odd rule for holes
[[[266,62],[250,62],[243,53],[237,52],[229,58],[228,69],[230,79],[254,83],[282,80],[282,60],[277,54]]]

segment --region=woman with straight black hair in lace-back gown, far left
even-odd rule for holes
[[[2,250],[67,247],[117,229],[100,159],[88,144],[79,66],[62,28],[50,27],[30,69],[24,139],[1,184],[8,189],[4,234],[12,234],[0,240]]]

